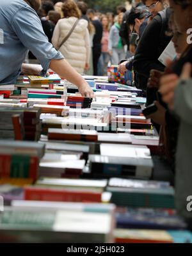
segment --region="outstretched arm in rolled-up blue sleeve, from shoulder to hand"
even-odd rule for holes
[[[22,8],[13,17],[12,27],[22,44],[40,61],[44,71],[51,68],[61,77],[76,84],[82,95],[93,96],[93,91],[86,81],[64,60],[60,51],[56,51],[48,42],[40,19],[34,10],[30,7]]]

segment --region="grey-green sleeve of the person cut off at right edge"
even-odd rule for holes
[[[175,88],[174,111],[181,120],[192,124],[192,79],[180,81]]]

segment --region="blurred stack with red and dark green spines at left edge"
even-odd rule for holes
[[[0,141],[0,178],[38,178],[38,165],[45,145],[37,142]]]

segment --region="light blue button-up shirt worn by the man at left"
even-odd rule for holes
[[[30,50],[44,71],[52,59],[63,59],[49,43],[35,10],[24,0],[1,0],[0,85],[14,84]]]

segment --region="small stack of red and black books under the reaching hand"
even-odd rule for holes
[[[93,98],[84,96],[68,96],[67,106],[74,108],[88,108],[91,107]]]

